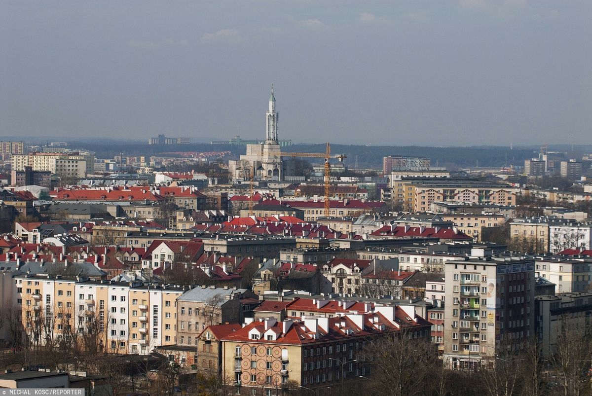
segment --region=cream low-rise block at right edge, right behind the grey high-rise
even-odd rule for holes
[[[555,293],[584,292],[592,281],[592,258],[538,257],[536,276],[555,284]]]

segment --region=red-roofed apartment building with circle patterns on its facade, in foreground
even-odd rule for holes
[[[412,305],[375,304],[374,312],[350,311],[335,317],[247,318],[222,336],[223,373],[234,378],[236,394],[263,389],[278,394],[288,381],[301,387],[330,387],[365,375],[366,343],[402,330],[429,337],[430,323]]]

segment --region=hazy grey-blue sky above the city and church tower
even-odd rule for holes
[[[0,139],[592,143],[592,1],[0,1]]]

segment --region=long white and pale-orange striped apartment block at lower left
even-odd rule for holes
[[[87,344],[90,337],[96,350],[110,353],[146,354],[175,344],[175,301],[182,292],[173,286],[92,281],[85,276],[14,278],[14,301],[22,310],[25,334],[33,342],[44,345],[53,342],[44,334],[51,333],[59,341],[78,331]],[[44,330],[46,323],[52,332]]]

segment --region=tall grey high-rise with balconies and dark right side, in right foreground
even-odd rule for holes
[[[534,335],[535,262],[475,249],[445,264],[444,355],[453,369],[493,367],[500,346]]]

